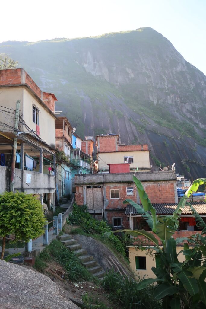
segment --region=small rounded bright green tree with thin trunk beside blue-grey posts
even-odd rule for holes
[[[4,256],[6,235],[15,234],[16,240],[34,239],[44,233],[45,218],[42,205],[32,194],[5,192],[0,194],[0,236]]]

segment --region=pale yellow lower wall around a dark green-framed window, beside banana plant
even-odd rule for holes
[[[183,250],[183,247],[177,247],[177,254]],[[156,278],[155,274],[152,271],[152,267],[156,267],[155,264],[155,257],[153,255],[153,257],[149,256],[149,254],[146,254],[148,252],[148,250],[135,250],[135,247],[129,247],[129,262],[130,262],[130,267],[132,269],[132,271],[134,272],[134,274],[136,276],[140,276],[140,278],[142,279],[144,276],[145,278]],[[144,256],[146,257],[146,270],[143,269],[136,269],[136,263],[135,263],[135,256]],[[153,259],[154,258],[154,259]],[[183,255],[183,253],[180,253],[178,255],[178,260],[179,262],[184,262],[185,261],[185,256]]]

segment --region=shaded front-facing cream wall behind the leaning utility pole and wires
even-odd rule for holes
[[[7,110],[8,108],[16,109],[16,101],[20,100],[20,114],[23,113],[23,88],[22,87],[2,87],[0,88],[0,105],[5,108],[0,107],[0,109],[12,112],[11,110]],[[7,125],[11,125],[14,127],[14,114],[4,113],[0,111],[1,121]],[[9,127],[0,127],[0,131],[13,132],[13,130]]]

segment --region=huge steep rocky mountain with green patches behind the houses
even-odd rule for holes
[[[206,76],[152,28],[98,37],[4,42],[44,91],[54,92],[77,133],[116,133],[148,143],[151,164],[206,172]],[[159,161],[160,159],[160,161]],[[154,169],[155,169],[154,168]]]

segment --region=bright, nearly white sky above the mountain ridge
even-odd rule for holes
[[[1,3],[0,42],[97,36],[151,27],[206,74],[205,15],[206,0],[10,0]]]

